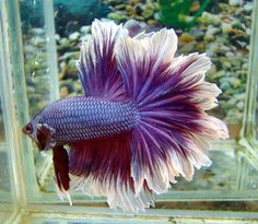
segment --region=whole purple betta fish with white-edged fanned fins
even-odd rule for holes
[[[210,166],[211,140],[228,131],[207,114],[221,93],[204,81],[210,59],[175,57],[174,30],[130,27],[95,20],[77,63],[84,95],[49,104],[23,132],[40,151],[52,149],[61,198],[81,190],[137,212],[154,205],[154,193],[176,177],[191,180],[195,167]]]

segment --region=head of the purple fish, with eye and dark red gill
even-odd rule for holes
[[[52,149],[56,144],[55,129],[43,121],[40,114],[26,123],[22,131],[37,144],[39,151]]]

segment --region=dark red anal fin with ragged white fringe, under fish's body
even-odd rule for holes
[[[91,197],[107,197],[112,209],[137,212],[153,205],[146,185],[134,193],[130,132],[75,142],[70,148],[71,189]]]

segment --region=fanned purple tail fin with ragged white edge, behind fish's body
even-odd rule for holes
[[[192,179],[194,167],[210,166],[211,140],[228,137],[225,123],[206,110],[218,105],[220,89],[204,81],[204,54],[174,58],[173,30],[121,38],[116,47],[126,94],[139,121],[131,135],[131,177],[136,194],[167,191],[175,177]]]

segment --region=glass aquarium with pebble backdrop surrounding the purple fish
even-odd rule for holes
[[[52,154],[22,127],[49,103],[82,95],[77,60],[94,19],[173,27],[177,55],[206,52],[222,94],[211,115],[230,139],[211,143],[210,167],[177,178],[155,208],[110,210],[105,198],[57,197]],[[0,0],[0,223],[248,223],[258,220],[258,3],[251,0]]]

